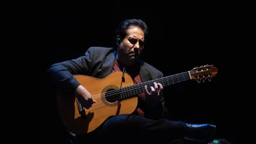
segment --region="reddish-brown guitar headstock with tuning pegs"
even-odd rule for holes
[[[215,77],[218,73],[218,68],[213,67],[212,65],[202,65],[200,67],[195,67],[189,71],[191,79],[197,80],[198,83],[201,81],[209,80],[211,81],[212,77]]]

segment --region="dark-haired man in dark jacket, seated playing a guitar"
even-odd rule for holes
[[[163,73],[140,60],[148,28],[140,19],[124,20],[116,31],[115,47],[90,47],[79,58],[55,63],[48,69],[54,84],[73,90],[81,105],[88,109],[97,100],[72,75],[104,78],[116,70],[125,70],[134,84],[163,77]],[[121,82],[121,77],[120,77]],[[164,106],[163,85],[152,83],[151,92],[145,85],[145,93],[138,95],[138,108],[132,114],[112,116],[95,132],[73,134],[76,143],[171,143],[187,138],[207,141],[213,138],[215,125],[187,124],[168,120]],[[109,138],[109,139],[107,139]],[[72,143],[75,143],[72,140]]]

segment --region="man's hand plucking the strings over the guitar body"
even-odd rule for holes
[[[75,95],[81,105],[86,109],[91,108],[92,104],[96,102],[96,100],[92,99],[91,93],[88,92],[88,90],[86,90],[86,88],[84,88],[82,85],[79,85],[76,88]]]

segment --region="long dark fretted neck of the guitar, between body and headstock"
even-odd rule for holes
[[[120,98],[125,99],[132,97],[134,95],[144,93],[145,85],[147,85],[148,92],[151,91],[150,86],[154,87],[154,82],[161,83],[163,86],[168,86],[175,83],[180,83],[182,81],[187,81],[191,79],[189,72],[182,72],[180,74],[174,74],[171,76],[161,77],[159,79],[154,79],[152,81],[147,81],[145,83],[134,84],[131,86],[126,86],[124,88],[120,88]]]

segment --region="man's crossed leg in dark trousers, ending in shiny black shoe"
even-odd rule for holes
[[[189,126],[189,129],[188,129]],[[150,120],[135,115],[117,115],[109,118],[99,131],[99,139],[111,143],[170,143],[184,136],[214,132],[215,127],[186,124],[167,119]],[[204,131],[205,130],[205,131]],[[193,133],[193,131],[195,131]],[[198,136],[198,139],[200,136]]]

